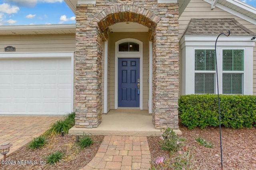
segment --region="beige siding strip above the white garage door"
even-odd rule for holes
[[[0,52],[4,47],[16,47],[16,52],[75,51],[75,34],[61,35],[1,35]]]

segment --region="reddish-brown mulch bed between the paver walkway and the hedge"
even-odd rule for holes
[[[186,146],[192,149],[196,159],[193,169],[220,170],[220,133],[219,128],[192,129],[180,127],[186,138]],[[195,138],[202,137],[214,147],[206,148],[199,145]],[[169,154],[160,149],[159,137],[148,137],[152,164],[158,157],[168,158]],[[224,170],[256,170],[256,127],[252,129],[231,129],[222,127],[222,156]]]

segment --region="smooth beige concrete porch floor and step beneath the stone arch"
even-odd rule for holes
[[[174,129],[181,134],[180,129]],[[71,135],[114,135],[114,136],[160,136],[160,129],[155,129],[152,114],[139,109],[112,109],[102,114],[102,123],[97,128],[77,128],[69,130]]]

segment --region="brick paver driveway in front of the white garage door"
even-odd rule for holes
[[[12,143],[10,154],[19,149],[32,138],[38,137],[61,116],[6,116],[0,115],[0,144]],[[7,156],[8,156],[7,154]],[[0,155],[0,159],[3,155]]]

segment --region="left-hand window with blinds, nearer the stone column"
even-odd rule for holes
[[[215,51],[195,50],[195,94],[214,94],[215,90]]]

